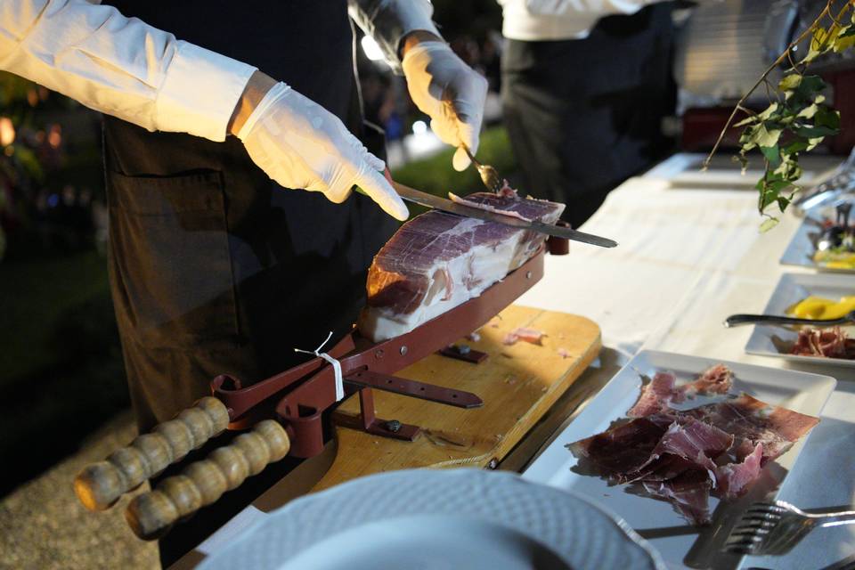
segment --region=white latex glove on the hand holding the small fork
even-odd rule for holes
[[[474,155],[484,119],[487,80],[464,63],[444,42],[421,42],[403,56],[403,75],[412,101],[430,116],[430,127],[442,142],[456,146],[452,164],[466,170]]]

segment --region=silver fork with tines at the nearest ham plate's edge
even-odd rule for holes
[[[855,510],[806,513],[785,501],[755,502],[730,531],[724,550],[739,554],[786,554],[815,528],[855,524]]]

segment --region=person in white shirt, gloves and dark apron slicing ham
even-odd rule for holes
[[[354,136],[348,14],[458,148],[458,169],[462,147],[477,150],[486,81],[444,43],[428,0],[109,4],[4,0],[0,69],[106,114],[110,282],[145,431],[218,374],[249,385],[304,360],[295,347],[349,332],[395,230],[380,208],[408,215]],[[354,184],[376,204],[351,197]],[[169,533],[164,566],[292,467],[265,469]]]

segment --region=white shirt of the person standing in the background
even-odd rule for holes
[[[498,0],[504,37],[529,42],[588,37],[597,20],[633,14],[659,0]]]

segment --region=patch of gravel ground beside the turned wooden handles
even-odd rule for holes
[[[121,414],[79,452],[0,499],[0,568],[159,568],[157,543],[138,540],[125,524],[128,497],[90,513],[71,486],[86,463],[102,460],[135,435],[130,412]]]

